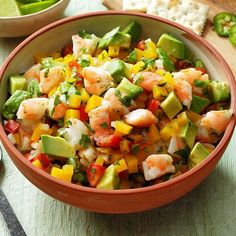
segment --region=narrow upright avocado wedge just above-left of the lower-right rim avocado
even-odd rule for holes
[[[191,121],[187,125],[182,127],[179,132],[179,137],[182,138],[190,149],[193,148],[196,136],[197,136],[197,126]]]

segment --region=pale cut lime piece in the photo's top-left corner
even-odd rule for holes
[[[20,16],[15,0],[0,0],[0,17]]]

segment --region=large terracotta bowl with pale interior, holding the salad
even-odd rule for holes
[[[51,52],[71,42],[71,35],[85,29],[102,36],[117,25],[132,20],[142,24],[143,36],[157,41],[164,33],[177,36],[206,64],[211,78],[227,81],[231,89],[232,119],[224,136],[211,155],[187,173],[157,185],[130,190],[98,190],[57,180],[36,169],[10,143],[0,125],[0,138],[14,164],[35,186],[50,196],[89,211],[102,213],[130,213],[159,207],[191,191],[213,170],[223,155],[236,123],[236,85],[232,72],[223,57],[203,38],[192,31],[160,17],[127,12],[96,12],[63,19],[37,31],[22,42],[6,59],[0,70],[0,109],[7,98],[8,77],[22,73],[33,64],[36,52]]]

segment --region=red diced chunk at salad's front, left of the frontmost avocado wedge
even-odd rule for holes
[[[98,181],[104,174],[105,169],[105,167],[96,164],[90,164],[86,169],[87,180],[91,187],[96,187]]]

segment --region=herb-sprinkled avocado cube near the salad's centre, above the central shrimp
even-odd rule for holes
[[[136,98],[140,93],[143,92],[141,87],[132,84],[125,77],[122,79],[116,89],[119,90],[121,94],[126,94],[130,99]]]

